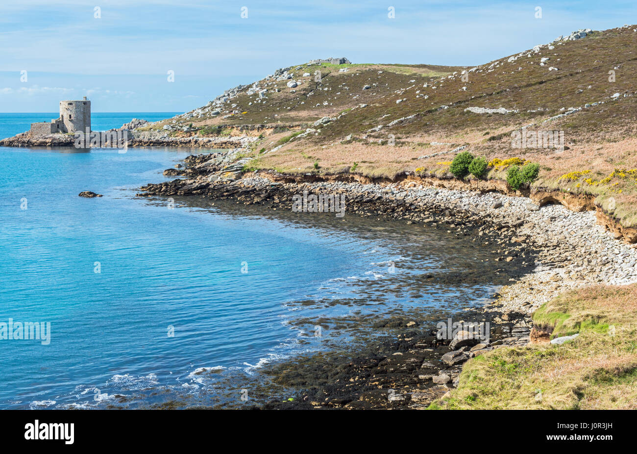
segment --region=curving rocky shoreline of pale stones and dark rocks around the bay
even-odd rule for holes
[[[345,194],[348,214],[385,216],[414,227],[455,231],[456,237],[469,237],[492,247],[499,255],[496,261],[521,272],[510,279],[512,284],[494,295],[497,298],[491,304],[466,308],[476,321],[496,325],[494,340],[481,348],[471,351],[478,345],[475,340],[461,347],[457,343],[450,346],[450,339],[432,339],[431,330],[399,335],[396,341],[378,346],[371,355],[357,356],[345,363],[325,363],[313,371],[320,376],[327,369],[333,376],[340,374],[340,379],[354,381],[359,388],[355,399],[345,395],[351,386],[328,386],[329,391],[320,391],[319,386],[301,392],[301,402],[266,402],[264,408],[425,408],[457,386],[462,363],[475,356],[476,351],[545,340],[543,333],[534,332],[531,314],[559,293],[599,283],[637,282],[636,249],[617,241],[616,235],[596,224],[596,215],[590,211],[572,211],[554,204],[539,207],[529,198],[425,186],[414,179],[343,182],[338,178],[325,181],[311,174],[298,177],[265,171],[244,173],[245,163],[236,160],[239,152],[189,156],[185,167],[164,172],[184,179],[148,184],[141,187],[145,192],[138,196],[194,195],[291,210],[292,196],[303,191]],[[278,367],[297,369],[297,361]],[[397,371],[401,372],[396,376]],[[380,376],[389,381],[378,381]],[[370,381],[372,378],[376,381]],[[384,391],[372,392],[371,384],[380,385]],[[399,386],[403,391],[399,397],[394,395],[396,399],[388,399],[387,386]],[[317,392],[322,399],[316,400]],[[367,400],[361,403],[363,396]]]

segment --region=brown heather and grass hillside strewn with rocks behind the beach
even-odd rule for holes
[[[219,114],[195,111],[154,128],[192,123],[177,134],[259,135],[250,168],[287,173],[451,177],[448,163],[461,146],[487,161],[519,157],[540,164],[534,186],[597,196],[609,214],[633,226],[636,29],[596,31],[475,68],[301,64],[288,68],[297,87],[266,78],[252,85],[268,89],[261,101],[243,87]],[[513,131],[524,126],[527,133],[561,131],[564,150],[512,147]],[[504,179],[507,167],[490,166],[486,177]]]

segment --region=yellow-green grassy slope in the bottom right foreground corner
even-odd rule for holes
[[[637,409],[637,286],[570,291],[534,314],[561,345],[500,348],[462,369],[432,409]]]

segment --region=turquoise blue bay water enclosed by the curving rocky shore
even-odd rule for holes
[[[170,209],[135,196],[191,152],[0,147],[0,323],[51,330],[48,345],[0,340],[0,408],[191,395],[205,386],[201,368],[250,373],[325,348],[299,318],[467,305],[491,291],[487,275],[410,288],[427,270],[480,270],[483,254],[437,231],[196,199]]]

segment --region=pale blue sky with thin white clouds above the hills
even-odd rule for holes
[[[634,0],[0,0],[0,112],[186,112],[311,59],[475,66],[635,23]]]

